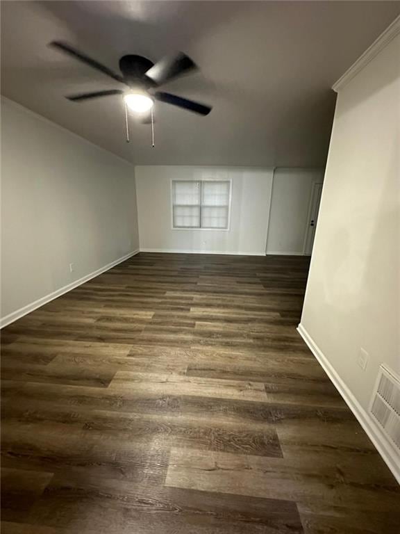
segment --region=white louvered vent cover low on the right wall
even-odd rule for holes
[[[386,437],[400,452],[400,380],[382,365],[370,410]]]

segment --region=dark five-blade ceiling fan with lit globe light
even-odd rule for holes
[[[128,90],[99,90],[67,96],[66,98],[72,102],[85,102],[85,100],[94,98],[123,95],[126,106],[138,113],[150,111],[155,100],[199,113],[199,115],[208,115],[212,109],[210,106],[199,102],[157,90],[164,83],[198,69],[197,65],[182,52],[172,58],[163,58],[156,64],[142,56],[122,56],[119,60],[119,70],[122,74],[117,74],[65,42],[53,41],[49,46],[72,56],[99,72],[103,72],[103,74],[110,76],[115,81],[124,83],[128,87]]]

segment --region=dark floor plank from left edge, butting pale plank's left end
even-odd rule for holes
[[[3,422],[3,467],[163,483],[168,463],[165,447],[149,447],[122,433],[91,431],[85,422],[79,412],[56,421],[36,416],[31,423],[22,418]]]

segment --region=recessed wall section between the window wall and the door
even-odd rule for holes
[[[313,184],[322,181],[323,169],[276,168],[267,254],[303,254]]]

